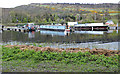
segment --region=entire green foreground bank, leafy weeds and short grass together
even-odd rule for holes
[[[3,72],[118,72],[118,55],[2,47]]]

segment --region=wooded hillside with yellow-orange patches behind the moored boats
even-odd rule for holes
[[[117,22],[118,4],[32,3],[3,9],[3,23]]]

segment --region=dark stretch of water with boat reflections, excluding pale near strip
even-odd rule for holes
[[[75,32],[59,32],[59,31],[32,31],[32,32],[16,32],[3,31],[3,42],[21,41],[21,42],[61,42],[61,43],[83,43],[83,42],[115,42],[118,41],[116,30],[108,31],[75,31]]]

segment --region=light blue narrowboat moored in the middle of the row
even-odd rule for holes
[[[41,25],[39,29],[50,31],[71,31],[68,25]]]

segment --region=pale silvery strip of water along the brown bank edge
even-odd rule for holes
[[[0,43],[1,45],[34,45],[39,47],[51,47],[51,48],[90,48],[90,49],[109,49],[109,50],[118,50],[120,46],[120,42],[87,42],[87,43],[23,43],[23,42],[7,42]]]

